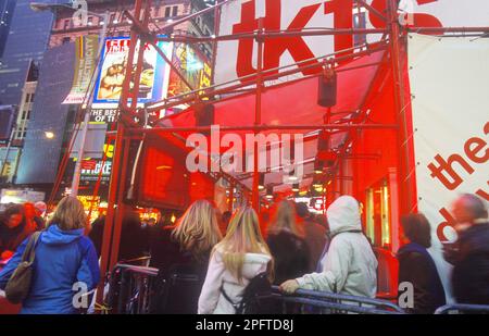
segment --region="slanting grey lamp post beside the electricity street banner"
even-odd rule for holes
[[[103,49],[103,41],[105,40],[105,36],[106,36],[106,27],[109,25],[109,11],[105,11],[105,13],[103,14],[103,26],[102,26],[102,33],[100,34],[100,39],[99,39],[99,50],[97,52],[97,60],[103,60],[102,57],[102,49]],[[100,63],[99,62],[95,69],[95,73],[97,74],[100,67]],[[88,123],[90,122],[90,109],[91,109],[91,104],[93,102],[93,87],[96,85],[96,80],[97,80],[97,76],[93,76],[93,80],[91,80],[90,86],[88,88],[89,90],[89,102],[87,104],[87,109],[85,111],[85,116],[84,116],[84,126],[82,128],[82,134],[80,134],[80,146],[79,146],[79,150],[78,150],[78,158],[76,160],[75,163],[75,172],[73,173],[73,182],[72,182],[72,196],[76,197],[78,195],[78,188],[79,188],[79,178],[82,175],[82,161],[84,160],[84,152],[85,152],[85,142],[87,140],[87,133],[88,133]]]

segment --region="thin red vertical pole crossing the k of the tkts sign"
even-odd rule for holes
[[[256,69],[256,100],[254,111],[254,125],[259,126],[262,123],[262,70],[263,70],[263,18],[259,18],[259,30],[256,36],[258,41],[258,69]],[[254,133],[255,135],[258,132]],[[259,146],[256,140],[254,141],[253,151],[253,194],[252,204],[256,213],[260,213],[260,173],[259,173]]]

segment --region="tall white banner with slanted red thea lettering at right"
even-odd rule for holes
[[[450,204],[465,192],[489,200],[489,39],[411,35],[409,65],[418,209],[447,285],[440,241],[456,238]]]

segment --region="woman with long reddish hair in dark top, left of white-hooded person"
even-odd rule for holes
[[[296,206],[283,200],[277,208],[266,242],[275,260],[275,283],[296,278],[309,271],[310,252],[301,226],[297,223]]]

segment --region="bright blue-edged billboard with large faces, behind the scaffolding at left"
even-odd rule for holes
[[[121,98],[130,38],[110,37],[105,39],[99,74],[97,76],[93,103],[97,108],[114,108]],[[172,58],[172,43],[158,42],[165,55]],[[166,97],[170,65],[149,43],[143,46],[143,65],[140,78],[138,103],[162,100]],[[138,53],[139,46],[136,49]],[[136,67],[135,58],[134,67]],[[103,104],[103,105],[99,105]]]

